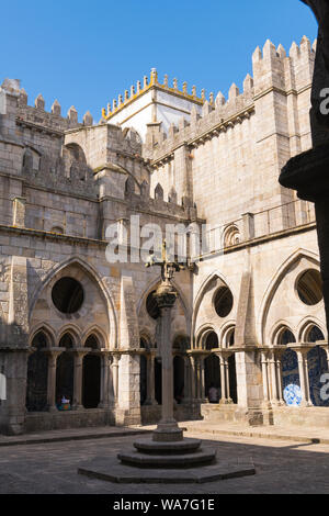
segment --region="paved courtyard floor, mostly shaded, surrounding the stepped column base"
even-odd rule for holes
[[[222,428],[223,429],[223,428]],[[113,456],[131,447],[134,437],[115,436],[21,444],[0,448],[1,494],[270,494],[329,493],[329,445],[238,435],[198,437],[217,448],[220,460],[250,457],[257,474],[202,485],[122,485],[78,475],[77,468],[97,457]]]

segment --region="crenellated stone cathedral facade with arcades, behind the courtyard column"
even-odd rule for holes
[[[132,259],[132,220],[207,227],[175,277],[178,419],[329,425],[314,206],[277,181],[311,146],[315,45],[268,41],[228,99],[152,69],[98,124],[3,81],[0,433],[159,419],[160,277]],[[106,258],[113,224],[126,262]]]

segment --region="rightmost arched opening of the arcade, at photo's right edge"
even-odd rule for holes
[[[325,336],[318,326],[311,326],[306,333],[307,343],[318,343],[325,340]],[[308,382],[310,401],[315,406],[329,406],[329,400],[321,396],[321,377],[328,372],[327,354],[320,346],[315,346],[307,354]]]

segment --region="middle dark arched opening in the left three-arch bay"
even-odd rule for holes
[[[73,401],[73,377],[75,377],[75,359],[72,354],[73,341],[70,334],[65,334],[59,347],[66,350],[59,355],[56,368],[56,403],[59,406],[61,399]]]

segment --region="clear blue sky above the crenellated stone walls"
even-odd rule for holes
[[[227,96],[252,72],[251,55],[270,38],[288,51],[317,24],[299,0],[15,0],[1,2],[0,81],[21,79],[29,104],[42,93],[79,119],[143,80],[184,80]]]

